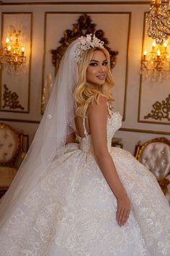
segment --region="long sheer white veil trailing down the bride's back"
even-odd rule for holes
[[[11,187],[0,202],[0,228],[36,186],[37,181],[45,174],[55,155],[59,156],[61,161],[58,164],[62,165],[66,136],[75,131],[76,103],[73,100],[72,92],[78,82],[75,51],[79,44],[80,41],[77,39],[68,46],[61,60],[48,106],[42,116],[32,145]]]

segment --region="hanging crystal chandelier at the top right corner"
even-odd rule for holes
[[[146,14],[148,37],[162,45],[170,35],[170,0],[162,4],[161,0],[152,0],[150,12]]]

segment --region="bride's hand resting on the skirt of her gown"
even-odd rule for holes
[[[127,195],[117,198],[117,223],[122,226],[128,220],[130,214],[130,200]]]

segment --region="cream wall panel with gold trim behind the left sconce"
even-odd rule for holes
[[[2,45],[6,45],[6,38],[9,38],[11,25],[15,30],[22,30],[19,36],[19,45],[24,46],[24,56],[27,57],[26,66],[19,74],[9,74],[5,69],[1,72],[1,111],[25,112],[30,111],[30,64],[32,46],[32,14],[31,13],[2,13],[1,31]],[[10,44],[10,43],[9,43]],[[5,93],[4,85],[11,91],[17,93],[18,104],[12,108],[5,106],[3,96]],[[20,107],[19,107],[20,106]]]

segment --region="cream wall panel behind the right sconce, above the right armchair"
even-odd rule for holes
[[[152,43],[153,39],[148,38],[147,36],[147,27],[143,28],[143,51],[146,50],[148,52],[147,58],[149,58],[149,53],[152,51]],[[170,51],[170,38],[166,40],[167,43],[167,52]],[[164,118],[166,114],[160,109],[159,116],[163,116],[161,119],[153,119],[153,118],[145,118],[148,114],[152,114],[151,111],[154,110],[153,104],[158,102],[161,103],[165,101],[167,105],[164,105],[164,111],[168,111],[169,108],[168,100],[166,98],[170,94],[170,77],[168,80],[153,81],[151,82],[149,77],[143,78],[140,80],[140,95],[139,95],[139,113],[138,113],[138,121],[140,122],[148,122],[148,123],[158,123],[158,124],[170,124],[170,120]],[[157,116],[157,115],[156,115]],[[169,110],[169,118],[170,118],[170,110]]]

